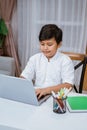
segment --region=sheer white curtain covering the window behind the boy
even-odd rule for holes
[[[21,68],[39,52],[38,35],[44,24],[63,30],[60,50],[85,53],[87,42],[87,0],[18,0],[18,53]]]

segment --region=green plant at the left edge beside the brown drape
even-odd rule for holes
[[[8,34],[7,26],[4,20],[1,18],[0,19],[0,55],[2,55],[3,53],[4,41],[7,34]]]

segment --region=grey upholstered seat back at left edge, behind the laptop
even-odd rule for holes
[[[0,56],[0,74],[15,76],[15,60],[13,57]]]

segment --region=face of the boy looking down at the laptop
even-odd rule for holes
[[[55,55],[59,47],[60,44],[57,44],[54,38],[40,42],[40,49],[48,59],[52,58]]]

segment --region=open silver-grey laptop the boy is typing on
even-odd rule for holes
[[[38,101],[33,83],[27,79],[0,74],[0,97],[26,104],[40,105],[50,95]]]

